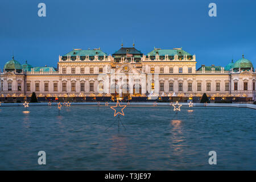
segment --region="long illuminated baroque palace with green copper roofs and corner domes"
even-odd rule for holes
[[[244,97],[255,100],[256,72],[242,56],[226,67],[201,65],[182,48],[144,55],[121,47],[113,55],[73,49],[59,56],[57,68],[32,67],[12,60],[1,71],[1,97]]]

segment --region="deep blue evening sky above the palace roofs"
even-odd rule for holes
[[[38,4],[46,4],[46,17]],[[210,17],[209,3],[217,16]],[[73,48],[101,48],[108,55],[132,47],[182,47],[201,64],[225,67],[245,55],[256,65],[254,0],[1,0],[0,68],[11,60],[57,67]]]

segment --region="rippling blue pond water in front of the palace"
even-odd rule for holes
[[[129,105],[118,133],[108,106],[1,107],[0,169],[256,169],[255,110],[172,109]],[[37,163],[40,150],[46,166]],[[211,150],[217,166],[208,164]]]

